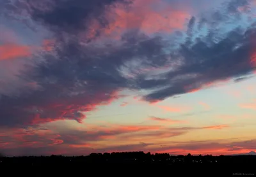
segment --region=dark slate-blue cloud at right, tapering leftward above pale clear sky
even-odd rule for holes
[[[181,46],[180,57],[184,57],[186,64],[177,71],[166,74],[166,79],[161,80],[161,83],[157,84],[159,80],[152,80],[154,87],[162,87],[162,89],[148,94],[145,99],[147,101],[162,100],[170,96],[185,94],[190,90],[200,89],[204,84],[213,81],[250,74],[254,66],[250,63],[252,44],[248,41],[250,38],[255,38],[255,34],[244,38],[242,34],[232,31],[230,37],[222,39],[211,47],[207,47],[207,44],[202,41],[198,41],[191,47]],[[235,41],[230,38],[233,40],[235,38]],[[241,42],[244,45],[234,50],[237,43]],[[175,80],[175,76],[184,77]],[[141,87],[148,85],[148,82],[148,80],[140,81]]]

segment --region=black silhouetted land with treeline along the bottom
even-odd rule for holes
[[[2,157],[0,176],[255,176],[256,156],[93,153],[79,157]]]

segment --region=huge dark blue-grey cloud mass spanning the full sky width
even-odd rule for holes
[[[122,97],[118,91],[124,88],[146,90],[143,95],[146,101],[163,100],[200,89],[207,83],[246,76],[254,69],[250,54],[251,39],[256,37],[255,25],[246,29],[237,25],[227,32],[216,30],[218,24],[239,20],[239,11],[235,20],[228,15],[234,6],[244,6],[237,4],[238,1],[231,1],[222,11],[204,18],[191,18],[189,35],[186,41],[175,43],[177,50],[169,49],[173,41],[165,37],[147,36],[136,30],[125,33],[117,44],[99,45],[78,35],[86,31],[91,18],[100,22],[100,28],[108,28],[109,19],[102,17],[104,10],[116,2],[127,1],[15,2],[4,5],[5,15],[10,13],[6,18],[17,20],[25,11],[29,20],[51,32],[54,54],[43,53],[40,57],[44,62],[20,75],[38,84],[40,89],[24,91],[19,96],[1,96],[3,126],[59,119],[81,122],[84,118],[81,111],[91,111],[97,105]],[[200,29],[203,24],[209,25],[207,35],[198,36],[192,29]],[[194,38],[195,35],[198,37]],[[161,68],[166,69],[165,73],[157,70]]]

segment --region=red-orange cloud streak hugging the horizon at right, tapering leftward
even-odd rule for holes
[[[175,142],[170,145],[170,143],[162,143],[161,146],[156,147],[154,143],[138,143],[133,145],[119,145],[111,146],[109,148],[99,149],[99,152],[122,152],[122,151],[136,151],[141,150],[144,152],[151,153],[170,153],[171,155],[187,155],[191,153],[192,155],[231,155],[234,153],[248,153],[255,150],[255,139],[248,141],[234,141],[234,139],[227,140],[220,139],[218,142],[216,140],[206,140],[206,141],[184,141]],[[97,150],[95,150],[97,152]]]

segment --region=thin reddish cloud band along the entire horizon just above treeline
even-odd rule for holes
[[[36,147],[34,145],[29,147],[16,148],[2,148],[3,153],[6,155],[88,155],[92,152],[122,152],[122,151],[144,151],[144,152],[159,152],[170,153],[171,155],[230,155],[235,153],[248,153],[255,150],[255,139],[246,141],[234,139],[217,139],[205,141],[179,141],[179,142],[160,142],[150,143],[150,141],[140,141],[141,143],[126,143],[123,145],[109,145],[103,148],[92,148],[90,144],[81,145],[55,145]],[[145,142],[145,143],[144,143]]]

